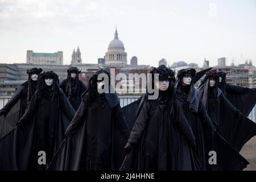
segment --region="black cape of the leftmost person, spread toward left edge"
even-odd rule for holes
[[[35,93],[32,93],[32,95]],[[14,129],[16,123],[24,114],[27,105],[29,104],[28,98],[28,81],[24,82],[14,96],[7,102],[0,110],[0,138],[5,136],[9,131]],[[32,97],[32,96],[31,96]]]

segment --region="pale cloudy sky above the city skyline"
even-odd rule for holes
[[[0,63],[26,63],[27,50],[63,51],[69,64],[80,47],[82,63],[104,57],[117,26],[127,62],[158,65],[162,58],[210,66],[253,60],[256,1],[0,0]]]

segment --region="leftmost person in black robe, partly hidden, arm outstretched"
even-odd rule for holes
[[[16,123],[24,114],[36,91],[38,76],[41,72],[41,68],[28,69],[28,81],[19,86],[14,96],[0,110],[0,138],[14,129]]]

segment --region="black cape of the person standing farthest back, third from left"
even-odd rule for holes
[[[60,82],[60,88],[63,89],[73,108],[77,110],[81,104],[81,95],[87,86],[81,80],[69,81],[69,79],[65,79]]]

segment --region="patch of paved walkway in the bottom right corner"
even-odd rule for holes
[[[250,163],[244,170],[256,171],[256,136],[243,146],[240,154]]]

